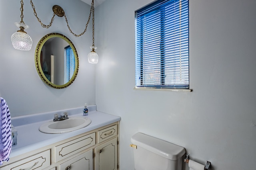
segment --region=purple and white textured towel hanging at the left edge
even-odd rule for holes
[[[9,160],[12,150],[12,129],[9,108],[3,98],[0,98],[0,165]]]

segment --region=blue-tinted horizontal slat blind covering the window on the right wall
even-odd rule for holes
[[[188,26],[188,0],[157,0],[135,12],[137,88],[189,88]]]

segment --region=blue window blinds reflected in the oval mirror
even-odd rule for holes
[[[69,82],[75,71],[75,56],[70,46],[65,47],[65,61],[64,61],[64,84]]]

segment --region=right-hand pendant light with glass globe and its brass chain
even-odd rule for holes
[[[88,62],[91,64],[97,64],[99,56],[94,51],[97,49],[97,47],[94,46],[94,0],[92,0],[92,46],[90,46],[90,49],[92,49],[92,51],[88,54]]]

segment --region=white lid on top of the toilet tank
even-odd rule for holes
[[[131,138],[131,142],[134,145],[140,146],[170,160],[178,160],[185,154],[185,149],[183,147],[143,133],[134,134]]]

